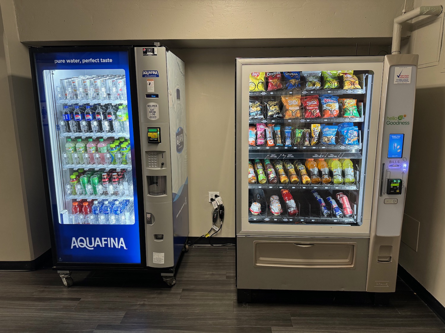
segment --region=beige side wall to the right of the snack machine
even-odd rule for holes
[[[438,5],[444,0],[416,1]],[[444,13],[413,32],[406,50],[419,53],[409,184],[400,264],[445,305],[445,53],[440,50]],[[429,20],[422,20],[423,24]],[[422,44],[428,40],[428,45]],[[441,51],[438,59],[437,50]],[[431,62],[431,60],[437,62]],[[421,67],[419,66],[419,67]]]

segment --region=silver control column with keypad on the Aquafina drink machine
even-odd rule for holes
[[[135,48],[148,267],[174,266],[166,48]]]

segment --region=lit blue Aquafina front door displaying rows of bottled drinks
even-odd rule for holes
[[[133,123],[129,83],[129,52],[36,52],[34,53],[34,60],[57,262],[75,263],[76,265],[102,263],[112,266],[141,264],[141,235],[134,160],[136,156],[134,151],[134,125],[138,126],[138,124]],[[104,84],[103,87],[100,86],[95,89],[93,81],[97,78],[104,79]],[[65,83],[62,82],[65,79],[67,82],[72,81],[73,83],[69,83],[69,87],[66,83],[65,86]],[[85,83],[85,87],[81,86],[81,79],[89,80],[88,84]],[[106,82],[107,80],[109,82]],[[121,86],[118,84],[121,84]],[[85,91],[82,91],[82,87],[85,88]],[[101,95],[102,92],[103,95]],[[74,110],[73,114],[77,118],[74,118],[73,115],[70,116],[69,111],[64,114],[67,105]],[[101,107],[106,110],[108,105],[112,105],[118,111],[121,111],[119,105],[122,105],[124,110],[126,105],[128,120],[125,112],[123,115],[116,115],[116,113],[108,115],[106,112],[97,115],[100,113],[97,111],[96,115],[93,114],[92,116],[85,112],[85,109],[91,110],[87,108],[87,105],[97,110]],[[79,111],[81,108],[84,109],[83,113]],[[76,114],[76,112],[79,114]],[[121,118],[118,118],[119,116]],[[73,133],[76,126],[83,129],[81,127],[83,119],[89,121],[100,119],[100,121],[105,122],[106,117],[111,117],[109,118],[109,127],[113,124],[111,120],[113,117],[123,119],[122,123],[117,123],[121,126],[119,132],[113,133],[108,127],[105,128],[105,125],[100,130],[94,127],[93,132],[93,125],[91,125],[93,123],[87,122],[85,131]],[[72,119],[75,121],[79,119],[79,121],[70,123],[69,121]],[[137,117],[134,119],[137,119]],[[97,126],[97,123],[94,126]],[[115,126],[117,126],[116,123]],[[70,130],[71,132],[69,132]],[[109,145],[113,140],[119,141],[120,137],[124,139],[124,143],[129,140],[131,160],[126,161],[126,163],[117,159],[120,164],[114,166],[107,164],[109,161],[106,160],[107,157],[104,157],[105,162],[102,162],[102,160],[100,163],[96,161],[100,165],[93,166],[92,164],[96,162],[86,164],[85,159],[84,164],[81,165],[81,161],[77,160],[83,153],[82,149],[85,149],[86,153],[90,153],[88,146],[83,147],[83,143],[88,143],[88,139],[93,139],[93,142],[97,144],[99,139],[103,138],[105,142],[108,141]],[[72,140],[71,142],[77,142],[78,139],[81,139],[75,147],[72,147],[74,154],[79,154],[70,155],[71,158],[68,158],[65,154],[71,149],[68,147],[69,139]],[[98,154],[97,147],[96,152]],[[109,146],[107,146],[107,152],[111,152]],[[106,153],[104,154],[103,156],[108,156]],[[77,159],[73,156],[77,156]],[[111,161],[115,161],[115,155],[110,154],[110,156]],[[90,157],[94,159],[94,154],[92,153]],[[100,157],[102,158],[102,155]],[[76,164],[76,162],[79,164]],[[84,170],[82,171],[81,168]],[[122,170],[125,170],[126,173]],[[75,172],[81,173],[76,176],[80,178],[81,175],[86,175],[89,171],[92,174],[88,176],[88,185],[82,185],[83,188],[79,185],[76,187],[76,178],[70,182],[72,180],[70,176]],[[107,191],[115,192],[110,195],[109,192],[104,192],[106,186],[95,185],[96,182],[92,180],[94,172],[98,173],[96,176],[99,177],[100,184],[102,184],[102,175],[109,174],[109,176],[105,176],[105,178],[109,177]],[[113,172],[118,174],[119,177],[122,176],[119,182],[116,181],[116,183],[121,184],[118,190],[113,188],[115,185],[112,182]],[[79,183],[81,183],[80,180]],[[100,191],[99,188],[101,188]],[[93,192],[91,192],[92,189]],[[85,208],[86,214],[82,214],[82,217],[73,214],[73,206],[91,207],[94,200],[98,201],[98,206],[102,209],[103,206],[101,205],[104,205],[105,199],[109,200],[112,210],[114,200],[119,200],[121,210],[117,209],[116,211],[121,214],[112,213],[112,218],[109,218],[109,215],[106,218],[99,218],[104,216],[101,210],[100,214],[93,218],[88,214],[88,208]],[[77,202],[77,204],[74,204],[74,202]],[[84,205],[84,202],[88,203]],[[117,204],[117,207],[119,204]],[[97,206],[95,207],[97,208]]]

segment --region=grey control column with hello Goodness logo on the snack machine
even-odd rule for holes
[[[393,292],[401,240],[416,92],[417,55],[384,59],[366,290]]]

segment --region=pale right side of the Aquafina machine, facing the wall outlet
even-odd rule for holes
[[[173,244],[176,263],[189,235],[185,64],[166,52],[170,116]]]

